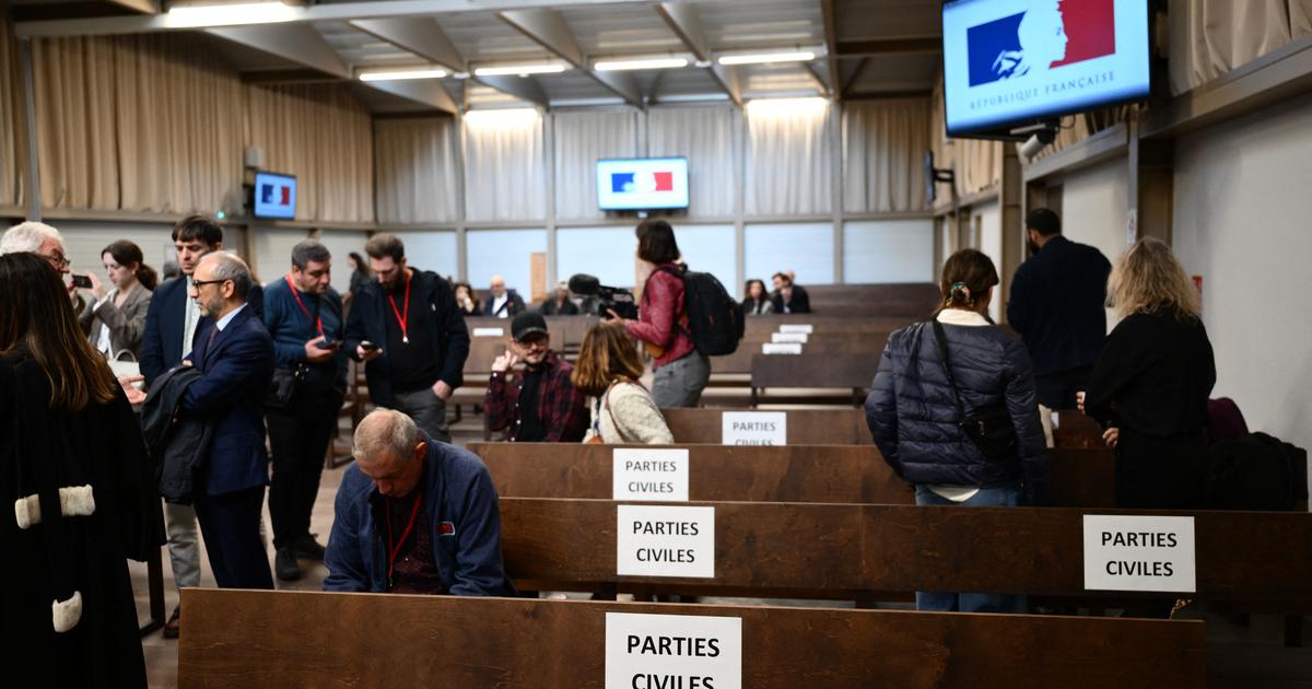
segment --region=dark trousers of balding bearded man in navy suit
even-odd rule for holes
[[[264,486],[223,495],[197,491],[195,517],[219,588],[273,588],[269,555],[260,539]]]

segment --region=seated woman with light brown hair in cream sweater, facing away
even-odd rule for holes
[[[588,331],[569,375],[575,388],[592,398],[592,427],[584,442],[674,442],[651,392],[638,382],[642,375],[643,361],[623,328],[604,323]]]

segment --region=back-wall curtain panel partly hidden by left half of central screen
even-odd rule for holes
[[[638,113],[564,112],[554,121],[556,218],[605,218],[597,207],[597,160],[638,156]]]

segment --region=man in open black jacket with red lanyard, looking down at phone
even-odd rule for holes
[[[352,302],[344,346],[365,362],[374,404],[408,415],[434,440],[451,441],[446,400],[461,387],[470,333],[455,294],[437,273],[405,265],[391,234],[365,244],[370,282]]]

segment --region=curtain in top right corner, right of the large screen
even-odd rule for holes
[[[1172,0],[1173,94],[1312,35],[1312,0]]]

